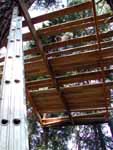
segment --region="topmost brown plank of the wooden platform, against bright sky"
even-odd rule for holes
[[[50,20],[50,19],[57,18],[57,17],[62,17],[64,15],[69,15],[75,12],[80,12],[80,11],[91,9],[91,8],[92,8],[92,3],[89,1],[86,3],[82,3],[80,5],[71,6],[71,7],[64,8],[58,11],[54,11],[45,15],[41,15],[41,16],[32,18],[31,20],[33,24],[36,24],[36,23],[40,23],[46,20]],[[23,26],[26,26],[26,25],[27,25],[26,21],[23,21]]]

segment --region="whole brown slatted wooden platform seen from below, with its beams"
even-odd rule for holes
[[[43,127],[91,124],[108,121],[111,111],[113,82],[113,31],[103,32],[102,25],[110,14],[96,16],[94,1],[30,18],[23,0],[18,0],[30,32],[23,34],[23,41],[34,40],[36,46],[24,51],[26,93]],[[88,17],[35,30],[34,25],[54,18],[91,11]],[[107,24],[112,23],[109,20]],[[75,30],[95,28],[95,33],[81,35],[66,41],[42,44],[48,38]],[[62,49],[62,50],[60,50]],[[4,58],[0,58],[0,63]],[[1,65],[0,70],[2,71]],[[2,74],[2,73],[1,73]],[[42,78],[42,79],[40,79]],[[62,118],[47,118],[48,113],[64,113]],[[72,112],[79,112],[74,116]],[[46,113],[46,117],[42,118]]]

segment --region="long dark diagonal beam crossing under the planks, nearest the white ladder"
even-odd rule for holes
[[[70,113],[70,110],[69,110],[69,106],[68,106],[68,104],[67,104],[67,102],[66,102],[66,100],[65,100],[65,97],[62,95],[62,93],[61,93],[61,91],[60,91],[60,87],[59,87],[59,85],[58,85],[58,83],[57,83],[57,80],[56,80],[56,78],[55,78],[55,76],[54,76],[53,69],[52,69],[51,65],[49,64],[49,62],[48,62],[48,60],[47,60],[47,58],[46,58],[46,55],[45,55],[45,53],[44,53],[41,40],[40,40],[40,38],[37,36],[36,30],[35,30],[34,26],[32,25],[32,21],[31,21],[31,19],[30,19],[30,15],[29,15],[29,13],[28,13],[28,11],[27,11],[27,8],[26,8],[26,6],[25,6],[25,3],[23,2],[23,0],[18,0],[18,3],[19,3],[19,5],[20,5],[20,8],[22,9],[22,12],[23,12],[23,15],[24,15],[24,17],[25,17],[25,20],[26,20],[26,22],[27,22],[27,24],[28,24],[28,27],[29,27],[29,29],[30,29],[30,31],[31,31],[31,33],[32,33],[32,36],[33,36],[33,38],[34,38],[34,40],[35,40],[36,46],[37,46],[37,48],[39,49],[40,54],[41,54],[41,56],[42,56],[42,58],[43,58],[43,62],[44,62],[44,64],[45,64],[46,68],[48,69],[48,73],[49,73],[50,76],[51,76],[53,85],[56,87],[56,90],[57,90],[57,92],[58,92],[58,95],[59,95],[59,97],[60,97],[60,99],[61,99],[61,101],[62,101],[62,103],[63,103],[65,109],[67,110],[67,113],[68,113],[68,115],[69,115],[69,118],[70,118],[71,122],[73,123],[73,119],[72,119],[72,116],[71,116],[71,113]]]

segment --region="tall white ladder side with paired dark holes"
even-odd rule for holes
[[[15,7],[1,84],[0,150],[28,150],[22,17]]]

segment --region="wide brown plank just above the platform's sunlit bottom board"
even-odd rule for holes
[[[110,104],[109,88],[113,83],[107,83],[107,105]],[[67,100],[71,111],[86,108],[102,108],[106,106],[102,84],[62,88],[62,93]],[[32,98],[38,111],[41,113],[64,112],[63,107],[55,89],[45,91],[32,91]]]

